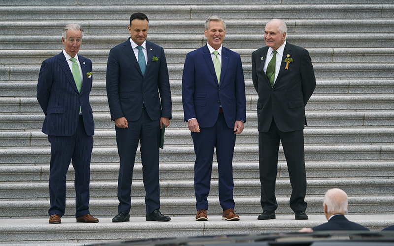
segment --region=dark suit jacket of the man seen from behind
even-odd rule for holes
[[[312,229],[313,231],[369,231],[368,228],[347,220],[344,215],[335,215],[327,223]]]

